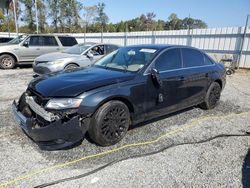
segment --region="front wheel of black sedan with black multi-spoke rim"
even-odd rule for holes
[[[121,101],[109,101],[94,114],[88,133],[95,143],[110,146],[126,135],[129,124],[128,107]]]

